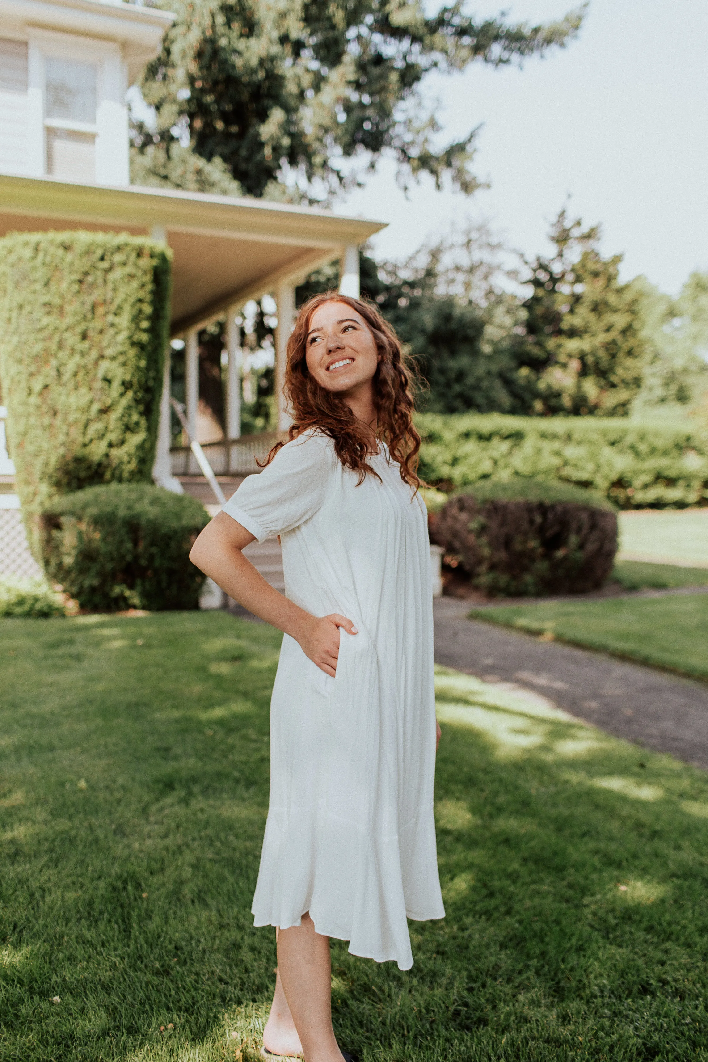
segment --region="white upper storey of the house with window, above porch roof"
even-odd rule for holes
[[[0,171],[129,184],[125,92],[172,22],[111,0],[2,0]]]

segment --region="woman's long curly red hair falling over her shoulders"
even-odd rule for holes
[[[380,478],[366,460],[370,455],[370,435],[365,427],[343,398],[313,379],[307,366],[310,321],[314,311],[325,303],[346,303],[364,319],[374,337],[381,356],[372,381],[377,436],[386,444],[393,460],[398,462],[401,479],[417,489],[421,482],[417,475],[420,435],[413,425],[414,372],[396,332],[376,306],[366,299],[326,291],[313,295],[300,308],[287,347],[283,392],[293,416],[288,439],[297,439],[304,431],[315,428],[329,435],[344,467],[359,474],[359,483],[364,481],[367,473]],[[281,446],[284,446],[282,440],[273,447],[265,464],[270,464]]]

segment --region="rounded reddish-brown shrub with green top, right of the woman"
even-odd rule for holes
[[[443,506],[434,536],[487,594],[598,589],[612,570],[617,515],[602,499],[580,500],[583,493],[556,483],[485,483]]]

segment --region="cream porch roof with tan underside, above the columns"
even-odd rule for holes
[[[0,174],[0,236],[70,228],[163,233],[174,254],[173,335],[279,282],[298,282],[385,224],[262,200]]]

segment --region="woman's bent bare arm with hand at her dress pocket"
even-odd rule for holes
[[[232,517],[218,513],[192,546],[189,559],[244,609],[295,638],[306,656],[333,675],[340,651],[339,629],[357,634],[357,628],[336,613],[311,616],[274,589],[242,553],[255,541]]]

